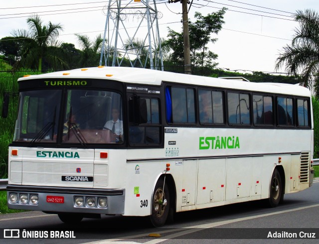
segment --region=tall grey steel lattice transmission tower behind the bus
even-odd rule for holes
[[[156,0],[123,1],[122,5],[122,0],[109,0],[103,8],[106,22],[100,66],[104,59],[105,66],[130,62],[132,67],[163,70],[158,22],[162,14],[157,10]],[[132,23],[134,27],[130,26]]]

